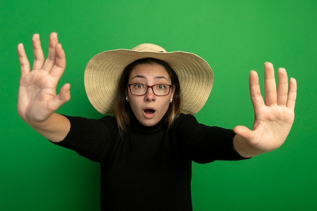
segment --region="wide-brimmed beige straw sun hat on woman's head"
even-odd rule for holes
[[[178,75],[182,94],[181,112],[195,114],[205,105],[214,74],[201,57],[182,51],[167,52],[154,44],[132,50],[110,50],[95,55],[85,69],[84,83],[89,101],[102,114],[114,114],[116,87],[125,67],[135,60],[152,57],[167,62]]]

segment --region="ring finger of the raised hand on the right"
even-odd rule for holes
[[[286,106],[287,95],[288,95],[287,72],[284,68],[279,68],[279,83],[278,83],[278,94],[277,94],[278,105]]]

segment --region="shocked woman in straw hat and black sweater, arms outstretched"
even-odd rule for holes
[[[65,70],[57,34],[45,60],[33,36],[30,70],[18,45],[21,79],[19,115],[50,141],[100,162],[102,210],[192,210],[191,162],[240,160],[280,147],[294,121],[296,80],[265,63],[265,102],[258,76],[250,73],[255,111],[252,131],[199,124],[192,114],[207,101],[213,73],[205,60],[187,52],[166,52],[142,44],[94,56],[85,70],[85,88],[101,119],[55,113],[70,99],[70,85],[56,86]]]

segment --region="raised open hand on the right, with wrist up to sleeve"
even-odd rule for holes
[[[294,122],[294,108],[297,85],[295,78],[288,83],[287,72],[279,68],[279,82],[276,91],[273,65],[264,64],[263,99],[257,72],[250,72],[250,95],[254,107],[253,129],[246,126],[236,126],[233,131],[234,149],[244,157],[272,151],[279,148],[286,140]]]

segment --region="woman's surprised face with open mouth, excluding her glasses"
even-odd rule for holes
[[[165,67],[157,63],[138,64],[129,76],[129,84],[142,83],[147,86],[156,84],[172,85],[171,78]],[[132,95],[127,89],[128,101],[136,118],[145,126],[153,126],[166,114],[173,100],[174,88],[167,96],[154,95],[151,88],[143,96]],[[171,100],[172,99],[172,100]]]

